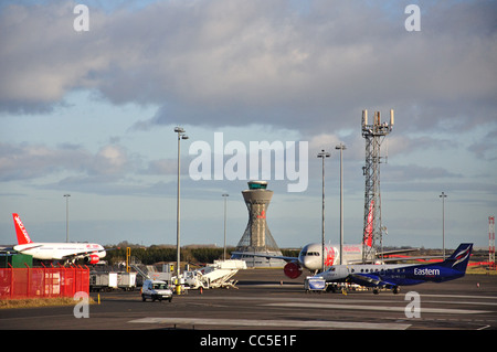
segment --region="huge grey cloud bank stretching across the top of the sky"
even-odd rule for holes
[[[149,125],[262,122],[331,132],[376,107],[402,111],[417,129],[495,119],[491,1],[423,2],[416,33],[403,28],[398,2],[91,7],[84,33],[72,28],[74,4],[3,9],[1,109],[49,109],[72,89],[93,88],[114,104],[159,105]]]

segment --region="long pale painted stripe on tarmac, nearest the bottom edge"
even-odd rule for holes
[[[189,324],[189,326],[229,326],[257,328],[307,328],[307,329],[368,329],[368,330],[405,330],[411,324],[403,323],[371,323],[349,321],[296,321],[296,320],[255,320],[255,319],[205,319],[205,318],[142,318],[130,320],[133,323],[151,324]]]

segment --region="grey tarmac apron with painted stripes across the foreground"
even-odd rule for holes
[[[105,292],[101,305],[89,306],[89,318],[75,318],[74,307],[4,309],[0,329],[497,329],[497,276],[468,275],[444,284],[403,287],[399,295],[341,295],[306,294],[304,278],[290,280],[282,271],[243,270],[235,276],[239,289],[191,291],[175,296],[172,302],[142,302],[139,291]],[[405,295],[409,291],[416,294]],[[416,307],[419,318],[412,317]]]

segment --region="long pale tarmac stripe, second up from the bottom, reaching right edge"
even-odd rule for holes
[[[405,311],[405,307],[387,306],[358,306],[358,305],[332,305],[332,303],[300,303],[300,302],[279,302],[266,303],[268,307],[299,307],[299,308],[320,308],[320,309],[353,309],[353,310],[377,310],[377,311]],[[468,309],[445,309],[445,308],[421,308],[423,313],[445,313],[445,314],[479,314],[489,313],[488,310],[468,310]]]

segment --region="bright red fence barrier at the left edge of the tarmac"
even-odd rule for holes
[[[89,294],[87,267],[0,269],[0,299],[74,297]]]

